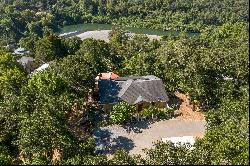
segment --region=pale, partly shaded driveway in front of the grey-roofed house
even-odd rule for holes
[[[154,123],[137,122],[129,126],[112,125],[94,130],[96,152],[112,154],[124,148],[130,154],[141,154],[142,149],[152,148],[153,142],[166,137],[196,136],[204,134],[205,121],[163,120]]]

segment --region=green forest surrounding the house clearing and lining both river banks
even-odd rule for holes
[[[248,3],[1,0],[0,165],[249,165]],[[78,23],[112,23],[110,42],[55,34]],[[124,26],[182,33],[129,38]],[[50,67],[28,74],[5,47],[11,44]],[[158,142],[145,158],[122,149],[111,160],[95,154],[92,135],[80,137],[84,126],[77,122],[82,112],[93,112],[86,97],[104,71],[155,75],[166,91],[188,95],[206,116],[205,136],[193,150]]]

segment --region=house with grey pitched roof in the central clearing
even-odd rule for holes
[[[98,92],[104,111],[121,101],[135,105],[138,111],[151,104],[164,108],[169,100],[162,80],[153,75],[99,79]]]

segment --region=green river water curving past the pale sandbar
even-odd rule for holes
[[[111,24],[77,24],[77,25],[68,25],[64,26],[63,28],[60,28],[59,34],[63,33],[69,33],[77,31],[78,33],[83,33],[87,31],[94,31],[94,30],[111,30],[113,25]],[[147,34],[147,35],[158,35],[158,36],[164,36],[164,35],[178,35],[180,32],[177,31],[162,31],[162,30],[155,30],[155,29],[146,29],[146,28],[133,28],[133,27],[124,27],[124,30],[137,33],[137,34]],[[188,33],[188,35],[193,36],[197,33]]]

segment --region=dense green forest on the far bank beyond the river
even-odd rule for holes
[[[247,0],[2,0],[0,38],[14,43],[62,25],[93,22],[200,32],[227,22],[248,22],[248,4]]]

